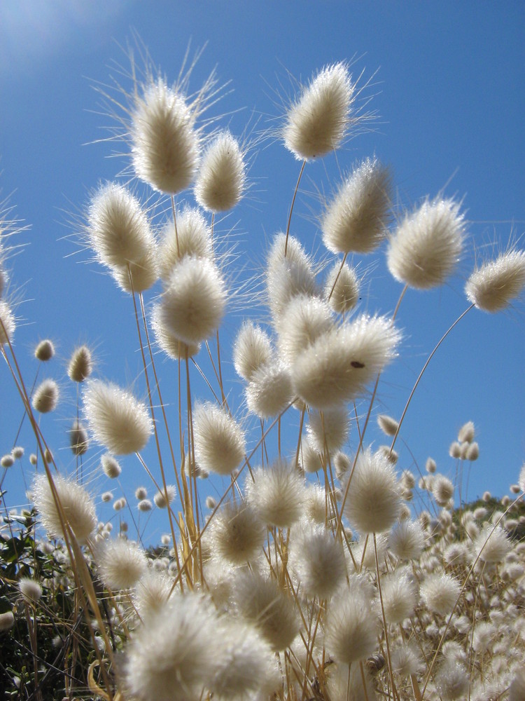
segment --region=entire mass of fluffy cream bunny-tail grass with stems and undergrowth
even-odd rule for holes
[[[67,360],[68,387],[42,379],[57,362],[49,339],[35,343],[34,380],[23,376],[7,205],[0,222],[1,382],[14,383],[31,430],[27,444],[2,437],[0,693],[524,701],[525,468],[510,496],[468,503],[471,421],[442,437],[443,470],[431,457],[403,467],[401,446],[433,355],[466,314],[519,299],[525,252],[511,243],[472,262],[465,311],[438,329],[402,414],[381,413],[381,375],[410,330],[397,321],[405,295],[444,285],[468,259],[463,203],[421,193],[400,211],[386,165],[344,162],[372,118],[346,62],[297,84],[269,130],[236,136],[213,116],[226,100],[214,73],[195,89],[191,66],[172,83],[143,55],[122,85],[99,87],[126,166],[92,191],[76,231],[129,297],[142,364],[132,386],[106,378],[89,344]],[[263,143],[288,149],[297,181],[250,283],[223,217],[251,196]],[[323,250],[307,250],[296,196],[311,161],[334,151],[338,179],[311,204]],[[374,257],[400,283],[391,313],[358,304]],[[233,307],[230,344],[221,327]],[[73,470],[45,430],[63,393],[76,397]],[[126,482],[131,460],[140,485]],[[13,471],[27,508],[1,489]],[[148,519],[162,523],[155,545]]]

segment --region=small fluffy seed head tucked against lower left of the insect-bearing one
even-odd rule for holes
[[[259,367],[246,386],[248,409],[259,418],[277,416],[292,399],[290,372],[278,362]]]

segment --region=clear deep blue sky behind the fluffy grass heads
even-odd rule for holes
[[[74,465],[65,433],[76,406],[65,372],[73,346],[94,345],[97,374],[112,381],[130,383],[141,372],[130,299],[89,262],[89,253],[71,255],[80,245],[75,227],[66,224],[83,212],[99,180],[113,179],[125,165],[123,159],[106,158],[114,150],[111,144],[84,144],[104,137],[103,128],[111,125],[108,116],[97,114],[100,100],[93,86],[109,83],[115,62],[128,67],[119,45],[131,40],[133,29],[170,81],[179,74],[188,41],[193,49],[207,43],[190,85],[197,88],[217,66],[219,79],[231,81],[233,91],[215,111],[235,112],[224,123],[237,134],[252,111],[260,117],[255,130],[275,124],[270,120],[282,114],[282,97],[293,93],[288,72],[307,81],[324,64],[354,59],[354,76],[363,72],[364,80],[372,79],[364,95],[372,97],[370,109],[377,111],[373,130],[346,144],[337,161],[331,156],[307,168],[292,226],[307,250],[321,245],[312,217],[318,200],[311,193],[329,193],[339,170],[348,170],[356,159],[376,154],[391,165],[400,212],[442,190],[463,200],[469,239],[458,273],[440,290],[409,292],[402,304],[405,339],[400,358],[384,376],[377,405],[378,411],[399,416],[434,343],[466,306],[463,285],[475,255],[490,254],[493,240],[497,249],[504,248],[511,236],[524,245],[525,5],[3,0],[0,188],[3,197],[13,193],[16,215],[31,225],[12,240],[24,245],[11,259],[10,292],[20,301],[16,349],[30,383],[36,341],[50,337],[57,345],[57,358],[40,377],[55,377],[64,400],[54,417],[43,417],[42,426],[64,471]],[[251,197],[223,222],[225,229],[235,226],[237,250],[254,264],[262,260],[268,238],[286,226],[298,172],[279,141],[262,146],[251,168]],[[381,250],[360,263],[368,269],[363,311],[388,313],[395,306],[400,285],[389,277],[383,259]],[[229,316],[221,332],[227,361],[243,316],[250,311]],[[481,454],[472,466],[471,498],[485,489],[506,494],[524,461],[524,323],[522,304],[500,315],[470,312],[433,359],[402,430],[421,470],[431,455],[453,476],[449,443],[462,423],[474,421]],[[174,369],[164,364],[162,372],[173,389]],[[232,407],[242,413],[241,386],[231,369],[225,372]],[[22,416],[5,366],[0,387],[3,454],[11,449]],[[144,392],[140,380],[137,389]],[[210,398],[204,388],[199,393]],[[375,434],[370,438],[380,440]],[[351,445],[355,441],[354,428]],[[34,449],[27,431],[19,442],[27,453]],[[398,447],[400,468],[416,471],[409,451]],[[97,461],[93,449],[87,472]],[[145,480],[134,458],[123,465],[123,485],[134,503],[132,491]],[[4,486],[10,505],[25,501],[20,468],[10,470]],[[93,486],[98,493],[116,487],[103,476]],[[203,487],[203,494],[214,491],[211,484]],[[114,492],[120,496],[118,488]]]

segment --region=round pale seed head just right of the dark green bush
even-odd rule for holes
[[[144,550],[131,540],[104,540],[95,551],[102,582],[114,592],[131,589],[146,572]]]

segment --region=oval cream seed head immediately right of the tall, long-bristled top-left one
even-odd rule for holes
[[[246,184],[244,154],[229,131],[207,147],[195,182],[195,199],[210,212],[225,212],[241,199]]]

